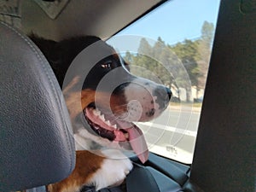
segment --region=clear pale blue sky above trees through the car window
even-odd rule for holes
[[[204,20],[215,26],[218,7],[219,0],[172,0],[119,34],[140,35],[154,40],[161,37],[166,44],[199,38]]]

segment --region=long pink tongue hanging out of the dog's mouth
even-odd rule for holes
[[[137,154],[139,160],[145,163],[148,160],[148,145],[143,136],[143,131],[137,125],[132,125],[131,128],[125,129],[125,131],[129,133],[131,148]]]

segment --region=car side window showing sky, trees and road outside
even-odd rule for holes
[[[108,39],[131,73],[172,90],[159,118],[137,123],[148,148],[190,164],[212,52],[219,0],[168,1]]]

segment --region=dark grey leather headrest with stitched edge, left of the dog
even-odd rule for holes
[[[74,168],[61,88],[39,49],[0,22],[0,191],[55,183]]]

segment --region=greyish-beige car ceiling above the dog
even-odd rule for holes
[[[20,1],[21,29],[60,40],[77,35],[109,38],[162,1],[69,0],[54,19],[36,2],[38,0]]]

